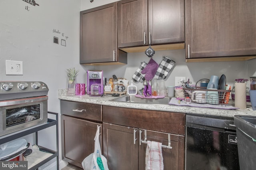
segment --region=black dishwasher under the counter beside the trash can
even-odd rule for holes
[[[239,170],[233,118],[186,115],[186,170]]]

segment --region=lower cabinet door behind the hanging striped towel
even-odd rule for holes
[[[145,130],[140,129],[142,140],[145,137]],[[146,130],[146,140],[161,142],[162,145],[168,145],[168,134],[162,132],[156,132],[151,130]],[[184,170],[184,158],[185,158],[185,137],[182,135],[170,134],[170,146],[169,148],[162,148],[162,155],[164,160],[164,169],[168,170]],[[145,157],[146,157],[146,147],[147,144],[141,143],[139,145],[139,170],[144,170],[146,167]]]

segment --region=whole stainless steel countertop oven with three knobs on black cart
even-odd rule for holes
[[[0,136],[45,123],[48,91],[41,81],[0,82]]]

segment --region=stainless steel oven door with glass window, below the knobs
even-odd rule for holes
[[[47,122],[48,96],[0,101],[0,136]]]

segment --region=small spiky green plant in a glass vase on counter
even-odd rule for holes
[[[75,80],[78,76],[79,70],[76,70],[75,68],[69,68],[67,69],[67,75],[68,75],[68,96],[74,96],[75,95]]]

